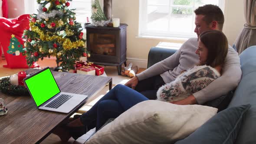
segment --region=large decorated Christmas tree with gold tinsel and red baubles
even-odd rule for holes
[[[68,7],[72,0],[37,0],[38,15],[31,15],[30,29],[23,38],[27,64],[44,57],[56,56],[57,67],[74,69],[75,61],[86,56],[82,26]]]

